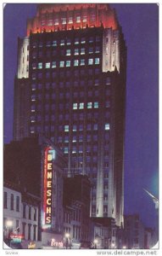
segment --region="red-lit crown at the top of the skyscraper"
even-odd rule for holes
[[[51,32],[80,29],[93,26],[118,28],[115,10],[105,3],[42,3],[36,17],[27,21],[27,36],[30,32]]]

